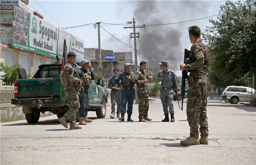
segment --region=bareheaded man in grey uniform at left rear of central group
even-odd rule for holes
[[[115,106],[117,103],[116,117],[120,118],[121,111],[121,89],[115,83],[115,80],[118,76],[118,69],[114,69],[114,76],[110,77],[108,80],[108,88],[111,89],[110,98],[111,98],[111,115],[110,118],[115,118]]]

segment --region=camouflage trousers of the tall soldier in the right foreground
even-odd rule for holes
[[[198,138],[199,131],[201,137],[208,137],[208,122],[206,116],[207,104],[207,79],[198,79],[196,77],[189,77],[189,91],[187,101],[187,117],[190,127],[190,136]],[[200,125],[199,131],[198,127]]]

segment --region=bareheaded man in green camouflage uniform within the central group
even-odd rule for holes
[[[134,83],[137,84],[137,94],[139,99],[139,122],[151,121],[148,117],[148,83],[151,76],[148,76],[145,72],[147,63],[145,61],[140,62],[140,70],[136,72],[134,77]]]

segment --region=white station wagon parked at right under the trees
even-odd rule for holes
[[[237,104],[239,101],[250,102],[251,97],[255,97],[254,89],[245,86],[227,86],[222,92],[222,99],[231,104]]]

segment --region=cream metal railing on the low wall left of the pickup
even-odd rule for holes
[[[0,85],[0,107],[14,107],[11,99],[14,98],[14,86]]]

